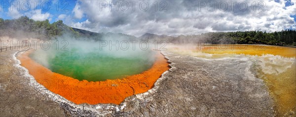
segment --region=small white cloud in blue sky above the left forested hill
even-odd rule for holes
[[[42,14],[41,13],[41,9],[37,9],[37,10],[32,10],[30,12],[25,13],[26,16],[30,17],[31,19],[35,20],[35,21],[44,21],[46,19],[48,19],[49,21],[51,20],[51,15],[47,12]]]

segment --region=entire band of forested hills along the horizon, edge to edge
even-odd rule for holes
[[[34,21],[26,16],[19,19],[3,20],[0,18],[0,36],[15,36],[24,32],[21,36],[52,39],[56,36],[68,34],[74,38],[87,38],[100,40],[103,37],[120,37],[120,39],[137,39],[135,36],[114,33],[95,33],[78,28],[72,28],[57,21],[49,23],[45,21]],[[122,37],[122,38],[121,38]],[[296,30],[287,29],[278,32],[262,32],[262,31],[237,31],[237,32],[209,32],[198,35],[180,35],[172,37],[167,35],[144,34],[139,37],[140,40],[165,40],[169,43],[186,44],[186,43],[209,43],[209,44],[266,44],[266,45],[283,45],[296,46]]]

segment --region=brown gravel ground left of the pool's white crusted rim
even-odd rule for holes
[[[0,117],[65,116],[57,102],[32,87],[22,70],[13,66],[15,52],[0,52]]]

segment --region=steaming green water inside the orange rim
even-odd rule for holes
[[[154,63],[154,54],[152,50],[83,52],[74,48],[67,51],[35,51],[30,57],[65,76],[78,80],[104,81],[148,70]]]

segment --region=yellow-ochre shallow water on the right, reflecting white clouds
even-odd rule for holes
[[[266,45],[171,45],[169,51],[204,58],[244,54],[256,60],[257,77],[275,101],[276,115],[296,113],[296,48]]]

